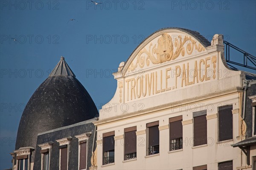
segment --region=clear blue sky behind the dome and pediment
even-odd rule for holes
[[[256,55],[255,0],[97,2],[102,4],[0,0],[1,170],[12,166],[9,153],[15,149],[26,103],[61,56],[99,109],[116,91],[110,73],[158,29],[191,29],[209,41],[222,34],[224,40]],[[233,57],[240,61],[242,56]]]

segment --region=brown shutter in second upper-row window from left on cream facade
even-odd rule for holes
[[[137,136],[136,136],[136,130],[131,131],[131,132],[125,132],[125,154],[129,153],[136,153],[136,141],[137,141]]]

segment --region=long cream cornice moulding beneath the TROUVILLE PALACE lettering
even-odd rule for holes
[[[144,114],[148,114],[148,113],[163,110],[163,109],[170,109],[172,107],[176,107],[177,103],[181,103],[182,105],[186,105],[186,104],[191,104],[191,103],[198,102],[198,101],[217,98],[217,97],[222,96],[222,95],[229,95],[229,94],[232,94],[232,93],[235,93],[235,92],[243,92],[243,88],[242,87],[234,87],[234,88],[231,88],[231,89],[223,90],[221,92],[214,92],[214,93],[209,93],[207,95],[202,95],[202,96],[199,96],[197,98],[189,98],[189,99],[186,99],[185,101],[184,100],[175,101],[173,103],[163,104],[163,105],[160,105],[160,106],[157,106],[157,107],[148,108],[148,109],[145,109],[141,112],[131,112],[131,113],[128,113],[128,114],[125,114],[125,115],[118,115],[118,116],[115,116],[115,117],[95,121],[95,122],[93,122],[93,124],[96,125],[96,126],[100,125],[100,124],[106,124],[106,123],[113,122],[113,121],[119,121],[119,120],[122,120],[122,119],[125,119],[125,118],[131,118],[133,116],[144,115]]]

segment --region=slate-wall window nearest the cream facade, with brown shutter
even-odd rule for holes
[[[83,133],[81,135],[76,135],[79,142],[79,150],[78,150],[78,167],[79,170],[87,169],[87,144],[90,138],[91,132]]]

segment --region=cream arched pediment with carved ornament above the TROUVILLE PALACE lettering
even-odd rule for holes
[[[198,32],[179,28],[162,29],[149,36],[134,50],[125,63],[122,74],[195,56],[206,52],[205,47],[209,45],[209,41]]]

